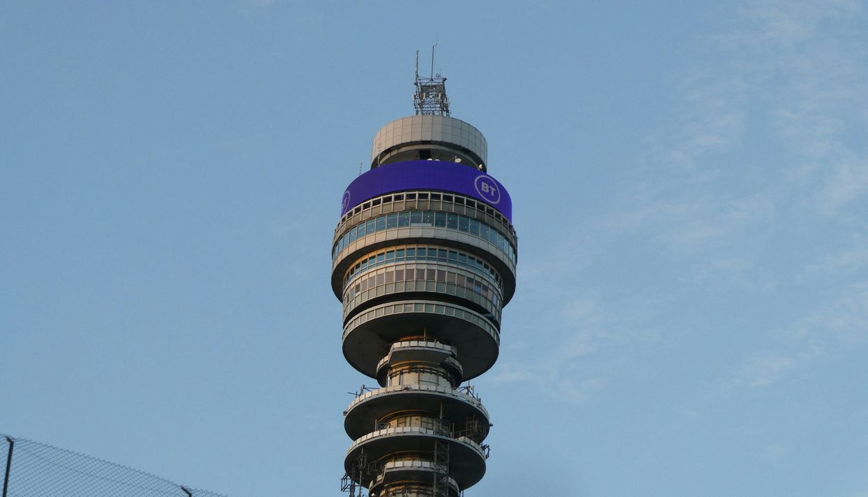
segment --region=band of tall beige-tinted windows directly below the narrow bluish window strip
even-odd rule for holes
[[[394,268],[379,269],[376,274],[356,282],[344,294],[344,308],[345,310],[354,308],[359,303],[379,295],[413,291],[440,292],[465,298],[470,297],[465,292],[481,295],[487,302],[479,301],[477,303],[486,307],[490,305],[490,309],[497,314],[490,317],[499,320],[500,292],[489,287],[486,282],[473,276],[453,273],[444,269],[407,268],[404,264]],[[356,302],[353,302],[354,299]],[[477,298],[470,300],[476,301]]]

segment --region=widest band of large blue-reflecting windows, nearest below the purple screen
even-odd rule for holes
[[[352,227],[343,236],[340,237],[332,249],[332,259],[338,256],[341,250],[347,245],[355,242],[365,235],[371,235],[383,229],[403,228],[411,226],[428,226],[435,228],[455,229],[463,231],[470,235],[477,236],[483,240],[495,244],[497,248],[503,250],[510,261],[516,262],[516,248],[512,246],[509,240],[503,236],[503,233],[492,228],[484,222],[479,222],[476,219],[467,217],[466,215],[457,215],[450,212],[439,212],[435,210],[407,210],[404,212],[393,212],[391,214],[380,215],[374,219],[369,219],[366,222],[360,222],[357,226]]]

